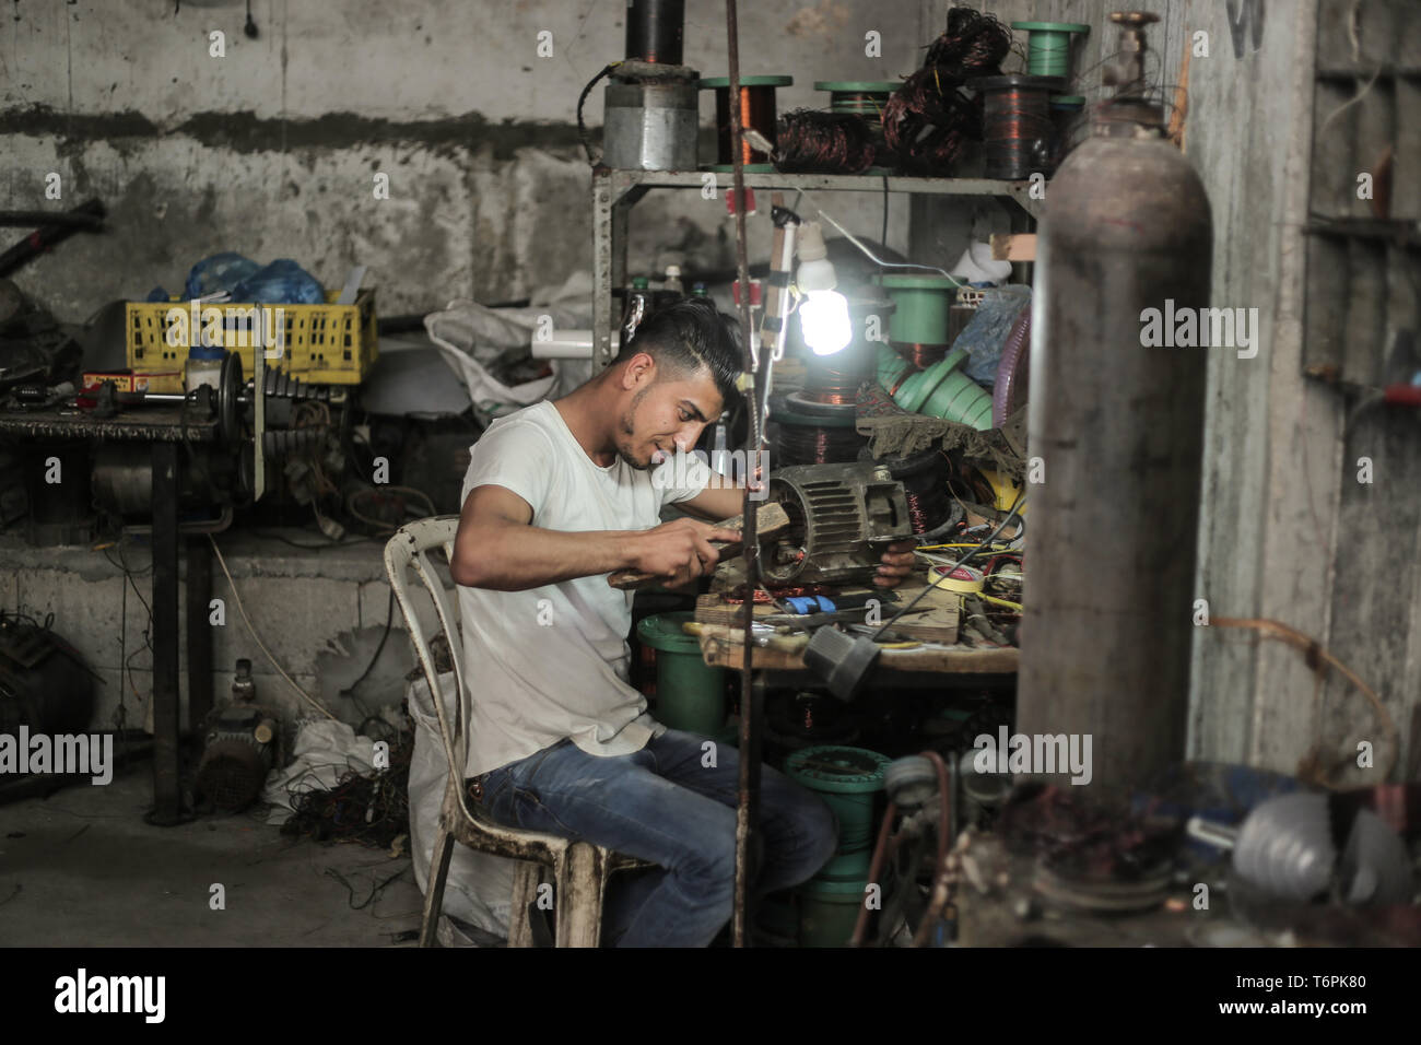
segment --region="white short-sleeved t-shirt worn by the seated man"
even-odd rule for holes
[[[460,505],[476,486],[503,486],[549,530],[649,529],[664,505],[705,488],[674,488],[621,458],[598,466],[551,402],[495,421],[469,454]],[[665,731],[627,681],[631,603],[605,573],[527,591],[459,586],[469,776],[566,736],[591,755],[627,755]]]

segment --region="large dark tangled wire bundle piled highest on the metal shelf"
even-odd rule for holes
[[[904,169],[944,175],[968,139],[982,139],[982,101],[962,85],[1000,75],[1012,30],[971,7],[948,11],[948,28],[928,47],[924,67],[884,107],[884,144]],[[881,162],[881,161],[880,161]]]

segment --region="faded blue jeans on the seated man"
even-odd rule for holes
[[[607,846],[658,864],[614,874],[603,940],[617,947],[705,947],[730,920],[740,754],[668,729],[631,755],[588,755],[560,741],[483,776],[483,806],[510,827]],[[834,813],[770,766],[760,769],[753,893],[811,877],[838,842]]]

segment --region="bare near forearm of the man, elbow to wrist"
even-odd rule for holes
[[[546,530],[519,523],[459,527],[455,583],[495,591],[526,591],[576,577],[631,567],[632,530]]]

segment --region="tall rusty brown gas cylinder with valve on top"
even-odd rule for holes
[[[1214,246],[1204,185],[1147,101],[1155,16],[1111,20],[1117,94],[1050,181],[1039,229],[1017,690],[1017,731],[1090,735],[1107,788],[1185,754],[1209,350],[1148,324],[1206,314]]]

